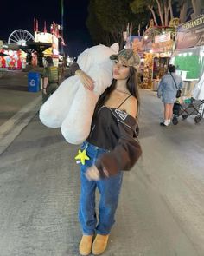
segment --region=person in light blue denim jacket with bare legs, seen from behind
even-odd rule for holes
[[[182,77],[175,74],[174,65],[169,65],[169,73],[163,75],[157,90],[157,96],[158,98],[162,97],[164,105],[164,118],[163,121],[160,122],[160,125],[163,127],[168,127],[170,125],[176,93],[178,89],[182,89],[182,86]]]

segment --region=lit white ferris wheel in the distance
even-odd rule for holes
[[[26,45],[26,42],[34,41],[34,36],[27,30],[15,30],[10,34],[8,43]]]

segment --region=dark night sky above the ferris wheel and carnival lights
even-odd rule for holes
[[[1,1],[0,40],[7,42],[10,33],[17,29],[28,30],[33,34],[34,18],[39,21],[39,30],[43,31],[44,21],[47,30],[50,24],[61,21],[61,0],[7,0]],[[92,40],[86,28],[87,6],[89,0],[64,0],[64,40],[65,52],[69,56],[78,56],[81,51],[92,46]]]

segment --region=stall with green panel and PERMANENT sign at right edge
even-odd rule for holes
[[[204,70],[204,16],[178,27],[175,52],[170,60],[184,81],[183,95],[190,97]]]

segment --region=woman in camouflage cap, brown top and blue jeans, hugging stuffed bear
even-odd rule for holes
[[[131,49],[124,49],[110,58],[115,61],[112,85],[99,97],[91,133],[81,146],[81,151],[87,154],[85,164],[80,164],[81,255],[88,255],[91,251],[99,255],[105,251],[115,221],[122,170],[133,167],[142,154],[135,139],[139,95],[133,66],[139,63],[139,57],[134,56]],[[92,79],[82,70],[78,69],[75,75],[80,76],[87,89],[93,89]],[[95,213],[96,188],[100,194],[98,224]],[[96,237],[92,243],[94,233]]]

